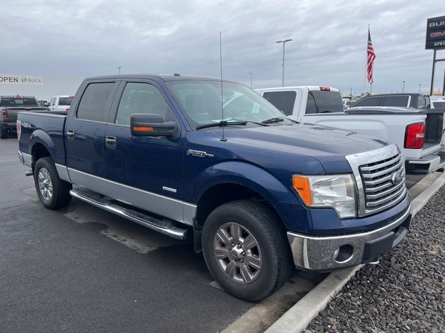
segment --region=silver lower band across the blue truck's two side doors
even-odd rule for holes
[[[193,225],[196,205],[67,168],[72,183],[168,219]]]

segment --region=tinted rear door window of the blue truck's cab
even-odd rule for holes
[[[106,105],[111,97],[114,82],[90,83],[82,95],[77,109],[77,119],[103,121],[108,120]]]

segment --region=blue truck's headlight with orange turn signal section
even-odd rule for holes
[[[340,219],[356,216],[354,181],[351,175],[294,175],[292,178],[293,188],[307,206],[332,207]]]

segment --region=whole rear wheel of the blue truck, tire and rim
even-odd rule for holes
[[[34,167],[34,184],[40,202],[49,210],[58,210],[71,201],[72,185],[58,177],[51,157],[42,157]]]

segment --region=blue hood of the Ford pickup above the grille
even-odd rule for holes
[[[372,151],[389,144],[371,135],[309,124],[238,128],[225,133],[227,139],[234,142],[314,157],[326,173],[350,171],[345,155]]]

